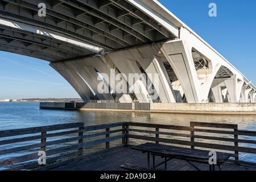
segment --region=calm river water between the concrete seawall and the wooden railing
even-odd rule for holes
[[[39,103],[0,103],[0,130],[73,122],[84,122],[86,126],[90,126],[121,121],[184,126],[189,126],[191,121],[237,123],[239,129],[256,130],[256,115],[134,114],[40,110]],[[256,162],[255,155],[244,154],[243,158]]]

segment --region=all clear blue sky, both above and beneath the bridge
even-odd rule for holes
[[[159,0],[256,83],[255,0]],[[217,17],[208,5],[217,4]],[[0,100],[79,97],[47,61],[0,51]]]

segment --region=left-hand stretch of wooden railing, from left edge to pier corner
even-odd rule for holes
[[[46,152],[47,164],[50,164],[82,155],[85,148],[101,143],[105,143],[105,148],[109,148],[110,142],[122,139],[124,144],[125,123],[97,126],[71,123],[3,130],[0,131],[0,139],[0,168],[8,167],[15,170],[35,168],[40,157],[39,151]],[[31,142],[32,144],[28,144]],[[19,147],[13,147],[14,144]],[[14,153],[13,157],[9,157]]]

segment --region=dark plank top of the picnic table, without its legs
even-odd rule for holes
[[[156,143],[144,143],[138,146],[131,147],[134,150],[139,150],[142,152],[150,152],[159,156],[167,156],[175,159],[190,160],[202,163],[208,163],[210,158],[209,152],[207,150],[199,150],[193,148],[184,148],[176,146],[167,146],[163,144]],[[224,152],[216,152],[217,154],[217,164],[222,164],[226,162],[232,156],[232,154]]]

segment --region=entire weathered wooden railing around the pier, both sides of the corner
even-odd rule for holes
[[[234,159],[229,162],[256,166],[256,163],[242,161],[239,156],[240,152],[256,154],[255,137],[256,131],[238,130],[237,125],[205,122],[191,122],[190,126],[134,122],[84,126],[84,123],[70,123],[3,130],[0,131],[0,169],[35,168],[39,151],[46,151],[47,164],[52,164],[88,154],[86,151],[91,148],[86,149],[98,144],[104,144],[102,150],[138,142],[230,152]]]

